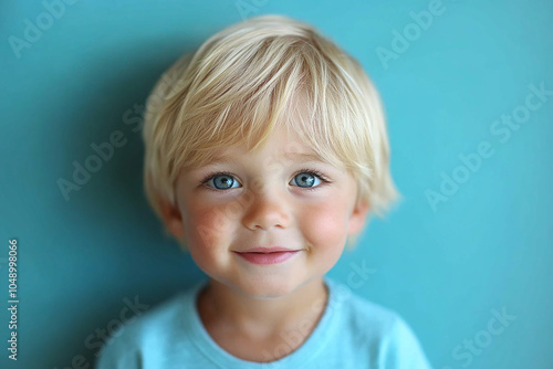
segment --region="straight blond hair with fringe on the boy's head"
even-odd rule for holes
[[[271,14],[216,33],[173,64],[148,96],[144,184],[159,219],[161,200],[176,203],[184,167],[206,165],[221,148],[261,147],[300,95],[307,117],[286,127],[346,168],[357,201],[384,218],[399,193],[377,91],[361,64],[313,27]]]

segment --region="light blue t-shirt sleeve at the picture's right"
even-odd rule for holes
[[[431,369],[417,337],[399,316],[396,316],[390,334],[383,342],[378,368]]]

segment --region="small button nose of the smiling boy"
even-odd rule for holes
[[[288,228],[291,221],[290,210],[282,194],[252,193],[251,203],[243,214],[242,223],[246,228],[254,230],[269,230],[271,228]]]

